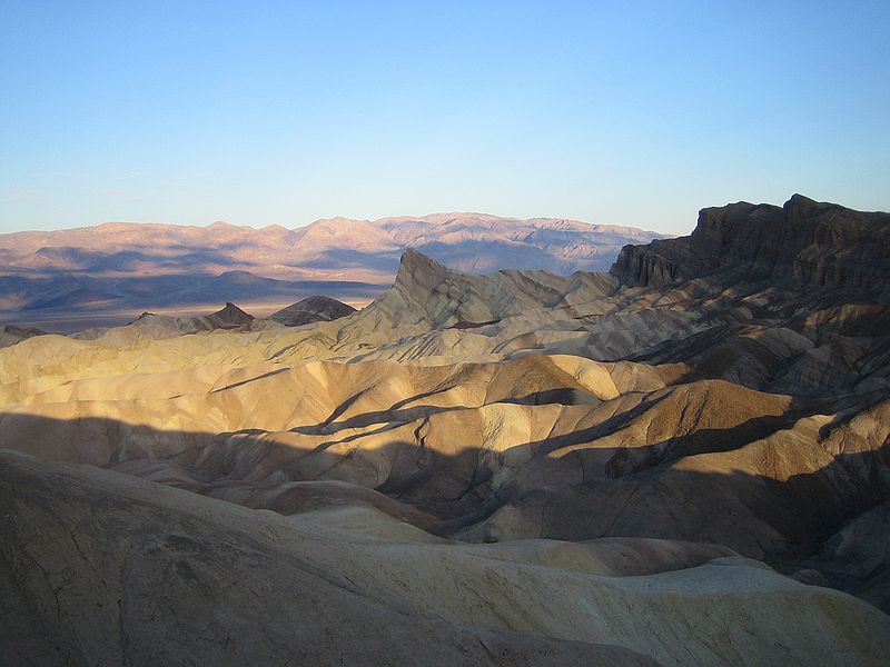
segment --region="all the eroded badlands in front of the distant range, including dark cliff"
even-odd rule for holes
[[[890,664],[889,275],[890,215],[794,196],[610,272],[8,331],[0,654]]]

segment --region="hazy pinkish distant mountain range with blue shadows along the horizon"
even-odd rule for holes
[[[0,323],[75,330],[142,310],[237,300],[275,310],[314,293],[362,305],[387,288],[407,248],[454,269],[605,271],[627,243],[662,235],[576,220],[434,213],[332,218],[263,229],[110,222],[0,235]],[[105,318],[105,319],[102,319]]]

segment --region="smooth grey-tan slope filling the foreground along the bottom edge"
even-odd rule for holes
[[[0,462],[0,646],[21,663],[890,659],[873,607],[724,549],[457,545],[373,510],[286,519],[108,471]]]

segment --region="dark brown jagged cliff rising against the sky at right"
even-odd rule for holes
[[[744,280],[863,289],[890,278],[890,215],[794,195],[783,207],[705,208],[689,237],[625,246],[611,272],[657,287],[734,270]]]

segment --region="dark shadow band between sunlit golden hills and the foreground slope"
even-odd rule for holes
[[[686,444],[672,438],[633,451],[587,447],[554,458],[557,446],[595,432],[502,452],[467,446],[446,454],[427,446],[416,429],[414,441],[394,438],[373,450],[354,441],[317,450],[257,430],[188,432],[17,414],[2,416],[0,447],[281,514],[358,502],[444,536],[705,541],[788,570],[844,522],[890,499],[890,438],[815,470],[807,470],[807,451],[777,449],[770,456],[784,467],[777,462],[774,477],[676,465],[692,454],[740,448],[773,431],[773,419],[700,431]],[[844,581],[850,588],[859,584]]]

